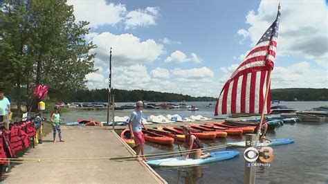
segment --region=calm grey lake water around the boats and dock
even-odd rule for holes
[[[213,107],[206,107],[209,102],[185,102],[193,104],[199,111],[185,109],[145,109],[143,114],[166,116],[179,114],[186,117],[201,115],[212,118]],[[118,103],[118,106],[125,103]],[[300,111],[327,105],[328,102],[280,102],[287,107],[298,108]],[[131,109],[115,111],[116,116],[129,116]],[[65,122],[76,122],[80,119],[106,121],[107,111],[71,111],[62,113]],[[273,147],[275,159],[270,167],[257,167],[256,183],[327,183],[328,182],[328,123],[300,122],[285,124],[275,131],[267,133],[267,138],[293,138],[295,143]],[[223,145],[225,142],[242,141],[245,136],[228,136],[224,139],[206,141],[206,147]],[[244,181],[244,148],[228,147],[240,151],[237,158],[219,163],[194,167],[153,167],[168,183],[243,183]],[[178,151],[177,145],[172,147],[147,142],[145,154],[167,151]]]

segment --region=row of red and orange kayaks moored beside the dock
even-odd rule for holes
[[[200,139],[226,138],[226,136],[242,136],[242,134],[251,134],[255,131],[255,126],[237,126],[229,125],[224,122],[208,122],[201,124],[188,124],[190,131]],[[182,127],[156,127],[154,129],[143,129],[145,140],[161,145],[172,145],[174,140],[184,141]],[[134,147],[134,140],[130,138],[129,129],[125,129],[120,137],[127,142],[128,145]]]

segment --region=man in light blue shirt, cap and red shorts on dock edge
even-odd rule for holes
[[[129,130],[132,133],[131,138],[134,139],[136,143],[136,155],[138,156],[136,160],[140,161],[142,158],[139,157],[140,151],[141,155],[144,155],[144,145],[145,145],[145,138],[143,136],[143,128],[147,130],[145,125],[143,124],[143,101],[136,102],[136,109],[132,111],[130,119],[129,119]],[[145,161],[147,159],[144,156]]]

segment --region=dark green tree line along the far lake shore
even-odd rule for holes
[[[136,102],[138,100],[149,102],[216,102],[217,100],[217,98],[212,97],[192,97],[190,95],[144,90],[113,89],[111,93],[115,95],[116,102]],[[271,89],[271,100],[328,101],[327,94],[328,89]],[[67,102],[107,102],[108,89],[78,90],[67,96],[70,96]]]

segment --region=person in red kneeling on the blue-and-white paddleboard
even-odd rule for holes
[[[185,142],[183,145],[188,148],[188,150],[192,150],[192,153],[187,154],[185,159],[188,158],[206,158],[210,156],[210,153],[208,154],[203,154],[203,151],[201,148],[203,148],[203,145],[201,144],[201,141],[199,141],[199,138],[197,138],[196,135],[192,134],[190,129],[188,127],[183,127],[183,134],[185,135]]]

